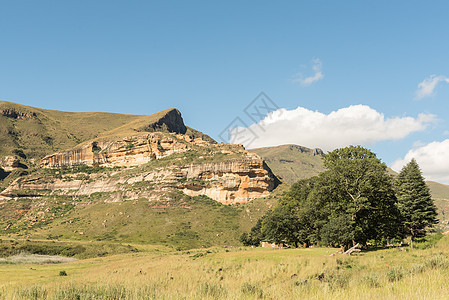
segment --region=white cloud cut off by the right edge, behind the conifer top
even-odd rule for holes
[[[449,184],[449,139],[414,148],[403,159],[396,160],[391,167],[399,172],[412,158],[421,167],[427,180]]]

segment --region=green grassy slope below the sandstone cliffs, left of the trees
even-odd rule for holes
[[[109,197],[95,193],[74,201],[46,196],[38,207],[25,198],[0,203],[1,229],[9,237],[32,239],[158,244],[175,249],[237,246],[240,235],[276,201],[269,197],[229,206],[180,192],[159,201],[105,202]]]

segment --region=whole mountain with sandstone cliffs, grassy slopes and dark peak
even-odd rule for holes
[[[275,202],[279,182],[263,159],[189,128],[176,109],[135,116],[1,104],[5,235],[237,245]]]

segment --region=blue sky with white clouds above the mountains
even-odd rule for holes
[[[258,145],[331,150],[339,145],[312,137],[335,128],[388,165],[416,157],[427,178],[449,183],[447,1],[0,4],[1,100],[130,114],[176,107],[219,139],[236,117],[252,124],[243,110],[263,91],[291,118],[277,116]],[[324,123],[299,126],[304,116]]]

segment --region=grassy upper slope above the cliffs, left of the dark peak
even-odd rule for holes
[[[152,115],[63,112],[0,101],[0,158],[22,151],[28,159],[40,159],[92,139],[144,134],[172,110]],[[212,140],[189,127],[187,134]]]

